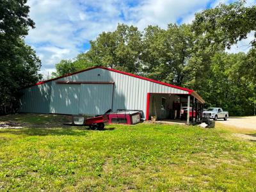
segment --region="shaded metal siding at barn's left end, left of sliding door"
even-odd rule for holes
[[[49,113],[52,82],[39,84],[22,90],[24,95],[20,99],[20,112]]]

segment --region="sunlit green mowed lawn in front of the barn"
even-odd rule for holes
[[[0,129],[0,191],[254,191],[256,142],[225,127],[61,125],[56,115],[9,115]],[[255,132],[254,132],[255,134]]]

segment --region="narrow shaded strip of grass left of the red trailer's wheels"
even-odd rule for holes
[[[113,131],[115,127],[109,127],[101,131]],[[55,128],[55,129],[4,129],[1,133],[16,134],[16,135],[28,135],[28,136],[86,136],[90,132],[95,131],[88,127],[70,127],[70,128]]]

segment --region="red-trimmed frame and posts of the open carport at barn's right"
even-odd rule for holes
[[[146,120],[149,120],[149,106],[150,106],[150,95],[153,93],[147,93],[147,108],[146,108]],[[161,93],[159,93],[161,94]],[[170,94],[170,95],[179,95],[180,97],[186,97],[187,98],[187,106],[188,106],[188,113],[187,113],[187,121],[186,124],[189,125],[189,107],[190,104],[192,104],[192,111],[194,110],[194,104],[199,104],[199,106],[196,106],[196,109],[199,107],[200,109],[200,119],[202,119],[202,107],[205,103],[205,100],[198,95],[194,90],[188,90],[187,94],[177,94],[177,93],[165,93],[165,94]],[[192,99],[192,102],[191,102]],[[191,103],[190,103],[191,102]],[[199,117],[198,117],[199,118]],[[196,117],[197,119],[197,117]],[[192,122],[193,122],[193,113],[192,113]]]

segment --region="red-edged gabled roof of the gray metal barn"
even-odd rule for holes
[[[113,71],[113,72],[117,72],[117,73],[120,73],[120,74],[124,74],[124,75],[127,75],[127,76],[131,76],[131,77],[136,77],[136,78],[139,78],[139,79],[143,79],[145,81],[150,81],[150,82],[153,82],[153,83],[157,83],[157,84],[163,84],[165,86],[170,86],[172,88],[177,88],[179,90],[184,90],[186,92],[188,92],[188,95],[192,95],[193,97],[195,97],[196,99],[200,100],[200,102],[202,103],[205,103],[204,99],[202,99],[202,97],[200,97],[200,95],[198,95],[198,93],[196,93],[194,90],[190,90],[188,88],[183,88],[181,86],[176,86],[174,84],[169,84],[169,83],[163,83],[161,81],[156,81],[154,79],[149,79],[147,77],[141,77],[141,76],[137,76],[137,75],[134,75],[134,74],[130,74],[130,73],[127,73],[127,72],[122,72],[120,70],[115,70],[113,68],[107,68],[107,67],[100,67],[100,66],[96,66],[96,67],[91,67],[91,68],[86,68],[84,70],[79,70],[77,72],[74,72],[72,74],[65,74],[64,76],[61,76],[61,77],[56,77],[56,78],[53,78],[53,79],[49,79],[49,80],[46,80],[46,81],[40,81],[36,84],[34,84],[33,86],[36,86],[36,85],[39,85],[39,84],[44,84],[44,83],[47,83],[47,82],[50,82],[50,81],[55,81],[57,79],[61,79],[63,77],[68,77],[68,76],[72,76],[74,74],[79,74],[81,72],[85,72],[87,70],[92,70],[92,69],[95,69],[95,68],[102,68],[102,69],[105,69],[105,70],[109,70],[109,71]]]

